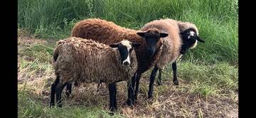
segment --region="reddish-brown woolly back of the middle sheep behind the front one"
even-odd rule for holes
[[[107,45],[120,42],[122,39],[143,43],[142,38],[137,35],[137,31],[117,26],[111,21],[106,21],[100,18],[88,18],[79,21],[73,27],[71,36],[90,38]]]

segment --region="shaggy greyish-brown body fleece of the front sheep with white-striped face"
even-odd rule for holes
[[[58,41],[53,54],[55,74],[60,82],[119,82],[129,80],[137,70],[137,58],[131,53],[131,64],[122,65],[117,48],[82,38]]]

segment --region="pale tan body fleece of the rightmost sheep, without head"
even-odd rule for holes
[[[173,63],[180,55],[182,39],[179,35],[180,30],[177,21],[172,19],[161,19],[146,23],[141,29],[142,31],[149,28],[157,28],[160,32],[166,32],[169,36],[166,37],[163,43],[163,48],[159,60],[156,63],[157,68],[164,69],[168,63]]]

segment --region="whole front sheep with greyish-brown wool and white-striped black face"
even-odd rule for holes
[[[58,41],[53,53],[53,67],[57,76],[51,86],[50,107],[62,107],[61,92],[70,82],[106,82],[110,92],[110,110],[117,109],[115,82],[129,80],[137,70],[134,48],[140,43],[123,40],[105,45],[82,38]]]

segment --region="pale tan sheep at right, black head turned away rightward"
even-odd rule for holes
[[[151,71],[150,82],[149,82],[149,92],[148,97],[152,97],[154,79],[156,73],[159,70],[159,85],[161,85],[161,71],[164,69],[168,63],[172,63],[172,68],[174,71],[174,85],[178,85],[178,80],[176,77],[176,60],[188,50],[188,48],[193,48],[196,46],[197,40],[201,39],[196,35],[198,33],[195,25],[191,23],[182,23],[181,21],[175,21],[173,19],[161,19],[151,21],[146,23],[146,25],[141,29],[142,31],[149,28],[157,28],[161,32],[166,32],[169,36],[163,40],[163,48],[159,60],[157,61],[154,69]],[[138,91],[136,88],[135,91]],[[135,93],[135,95],[137,95]]]

